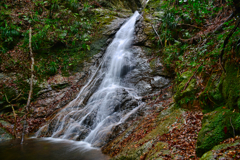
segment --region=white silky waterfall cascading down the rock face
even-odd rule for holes
[[[77,98],[43,126],[37,136],[82,140],[99,146],[113,126],[137,110],[141,100],[123,77],[134,68],[130,46],[138,16],[135,12],[116,33],[98,70]]]

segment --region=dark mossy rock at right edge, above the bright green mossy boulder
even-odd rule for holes
[[[201,107],[204,112],[225,106],[228,109],[240,111],[240,66],[236,63],[227,63],[226,74],[216,78],[212,74],[205,90],[200,95]]]

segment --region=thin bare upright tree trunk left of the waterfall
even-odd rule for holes
[[[25,130],[27,128],[27,115],[28,115],[28,112],[29,112],[29,106],[30,106],[31,97],[32,97],[32,90],[33,90],[34,57],[33,57],[33,53],[32,53],[32,28],[31,27],[29,29],[29,50],[30,50],[30,57],[31,57],[31,61],[32,61],[32,64],[31,64],[31,79],[30,79],[30,90],[29,90],[29,94],[28,94],[28,101],[27,101],[27,105],[25,107],[26,116],[24,117],[21,144],[24,143]]]

